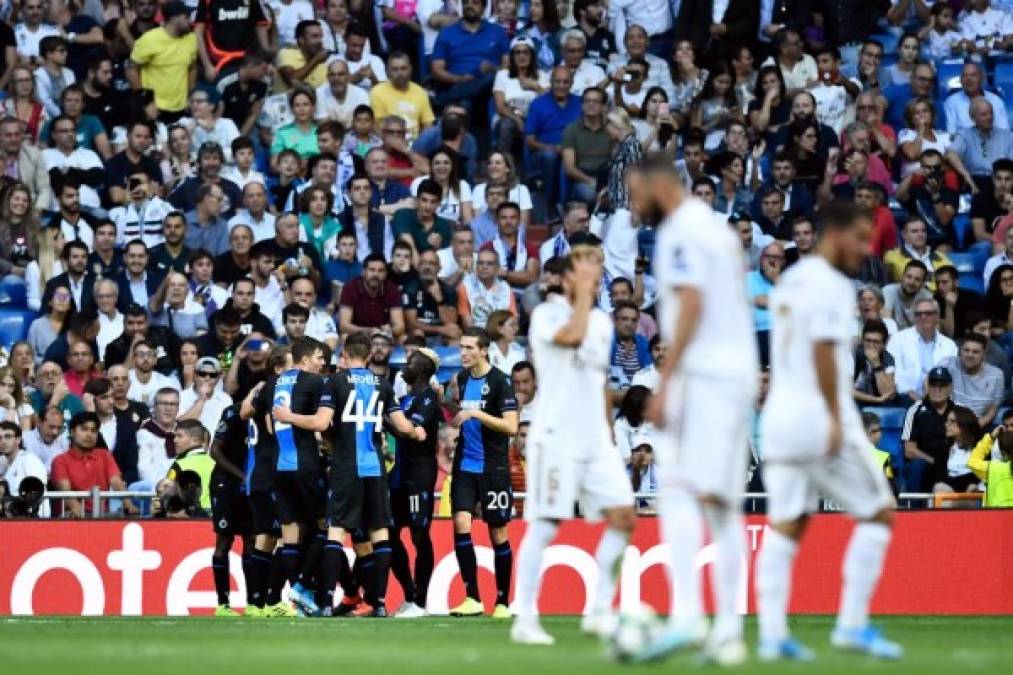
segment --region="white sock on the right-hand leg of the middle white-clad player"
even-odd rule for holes
[[[736,505],[737,507],[737,505]],[[746,556],[746,530],[737,508],[703,506],[716,556],[711,569],[716,621],[712,633],[715,643],[742,640],[743,617],[738,613],[738,591]]]

